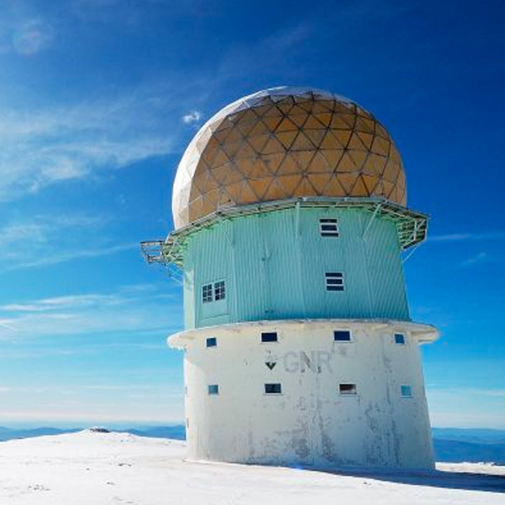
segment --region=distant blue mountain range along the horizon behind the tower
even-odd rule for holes
[[[0,441],[41,435],[73,433],[83,428],[29,428],[15,429],[0,426]],[[141,437],[175,438],[184,440],[184,426],[140,426],[123,431]],[[505,465],[505,430],[433,428],[435,459],[440,462],[495,463]]]

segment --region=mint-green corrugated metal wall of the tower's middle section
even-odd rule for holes
[[[339,236],[321,237],[319,219],[334,217]],[[262,319],[409,319],[395,224],[366,211],[293,208],[224,220],[190,236],[184,272],[186,328]],[[343,272],[345,290],[326,291],[325,272]],[[225,300],[202,304],[201,286],[222,279]]]

